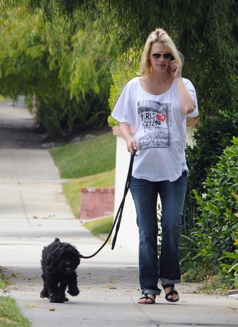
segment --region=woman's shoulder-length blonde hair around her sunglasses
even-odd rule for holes
[[[168,52],[170,52],[174,59],[182,66],[183,55],[177,50],[176,45],[174,44],[171,37],[164,30],[156,29],[148,36],[146,40],[146,44],[140,58],[140,72],[138,75],[142,76],[150,74],[151,62],[149,55],[152,44],[154,43],[163,43],[168,49]]]

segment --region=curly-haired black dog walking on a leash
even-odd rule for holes
[[[41,269],[43,289],[40,297],[47,297],[50,302],[63,303],[68,301],[67,292],[76,296],[79,294],[76,269],[80,264],[80,252],[69,243],[55,239],[42,250]]]

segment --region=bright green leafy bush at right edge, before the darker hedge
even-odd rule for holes
[[[199,216],[192,235],[197,239],[200,260],[208,262],[213,273],[218,272],[220,264],[232,264],[231,259],[222,254],[235,250],[232,233],[238,228],[235,215],[238,206],[233,193],[238,188],[238,138],[233,137],[232,143],[219,157],[216,168],[211,168],[203,183],[203,194],[194,190]]]

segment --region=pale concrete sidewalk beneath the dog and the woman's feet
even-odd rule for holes
[[[4,139],[4,128],[34,128],[26,109],[0,104],[0,126],[0,266],[12,282],[7,293],[17,300],[33,327],[237,327],[238,301],[193,294],[197,288],[193,283],[177,286],[177,303],[166,302],[162,292],[155,305],[138,305],[137,253],[117,246],[112,251],[110,244],[94,258],[82,259],[77,270],[79,296],[69,295],[65,303],[41,299],[43,246],[58,237],[76,245],[81,254],[90,255],[102,240],[74,218],[62,194],[58,170],[49,152],[40,147],[34,130],[31,143],[22,143],[14,132],[15,141],[14,137],[11,142]],[[54,311],[49,310],[52,307]]]

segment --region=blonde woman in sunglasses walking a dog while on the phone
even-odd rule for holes
[[[187,186],[186,116],[198,115],[193,84],[181,77],[182,55],[162,29],[152,32],[140,60],[140,77],[125,86],[112,116],[130,153],[136,152],[130,191],[139,227],[138,303],[155,303],[161,290],[179,300],[178,247]],[[131,135],[130,127],[135,130]],[[157,197],[161,201],[161,253],[157,253]]]

